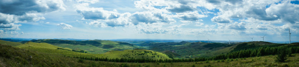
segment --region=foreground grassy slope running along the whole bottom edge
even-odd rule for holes
[[[299,67],[299,54],[286,63],[276,63],[276,56],[185,63],[114,63],[79,60],[59,54],[0,45],[0,67]]]

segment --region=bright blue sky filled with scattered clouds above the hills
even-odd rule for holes
[[[0,0],[0,38],[299,41],[299,0]]]

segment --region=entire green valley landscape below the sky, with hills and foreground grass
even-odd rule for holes
[[[299,61],[297,54],[299,43],[275,44],[256,41],[226,44],[182,41],[143,42],[135,45],[108,40],[40,39],[21,42],[0,40],[0,44],[0,64],[3,64],[1,66],[54,66],[50,64],[59,67],[75,66],[69,64],[92,67],[99,66],[99,64],[106,67],[299,66],[295,63]],[[292,54],[288,56],[288,63],[273,63],[276,60],[276,53],[271,54],[271,52],[284,47],[290,49],[290,54]],[[69,61],[62,61],[66,59]],[[54,61],[61,63],[54,63]],[[262,62],[257,63],[257,61]]]

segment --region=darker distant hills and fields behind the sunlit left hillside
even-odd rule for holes
[[[73,41],[73,40],[58,40],[58,39],[39,39],[30,40],[36,43],[48,43],[62,48],[70,48],[74,50],[84,50],[93,54],[104,54],[108,51],[122,51],[140,49],[143,47],[132,45],[125,42],[116,42],[108,40],[86,40],[86,41]],[[25,43],[23,41],[22,43]]]

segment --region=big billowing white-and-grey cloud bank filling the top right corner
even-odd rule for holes
[[[233,18],[254,18],[265,21],[283,20],[295,23],[299,21],[299,5],[291,0],[209,0],[219,9],[219,15],[213,22],[229,23]],[[238,3],[236,3],[238,2]],[[206,7],[206,6],[205,6]]]

